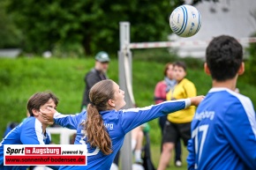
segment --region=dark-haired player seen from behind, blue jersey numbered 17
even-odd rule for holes
[[[205,71],[212,88],[192,120],[188,169],[255,170],[256,118],[252,101],[237,92],[243,48],[233,37],[215,37],[207,47]]]

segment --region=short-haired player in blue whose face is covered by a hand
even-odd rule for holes
[[[37,92],[27,101],[27,117],[4,137],[0,143],[0,169],[26,170],[27,166],[4,166],[4,144],[49,144],[50,135],[46,128],[52,122],[41,117],[40,110],[47,107],[56,108],[58,99],[51,92]],[[50,166],[58,169],[58,166]]]

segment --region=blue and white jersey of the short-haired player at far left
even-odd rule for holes
[[[42,133],[41,122],[34,116],[27,117],[4,137],[0,143],[0,169],[26,170],[27,166],[4,166],[4,144],[49,144],[49,132]]]

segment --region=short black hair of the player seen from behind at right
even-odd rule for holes
[[[209,43],[206,63],[213,79],[225,81],[235,78],[242,62],[243,48],[234,37],[221,35]]]

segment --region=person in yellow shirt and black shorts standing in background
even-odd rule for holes
[[[186,65],[183,62],[174,63],[175,78],[177,85],[173,90],[166,94],[166,100],[179,100],[191,98],[197,95],[195,85],[185,78]],[[195,113],[195,107],[187,107],[184,110],[177,111],[168,115],[168,121],[165,124],[163,132],[162,154],[157,170],[165,170],[169,165],[171,152],[175,148],[175,144],[183,139],[186,146],[191,138],[191,122]]]

